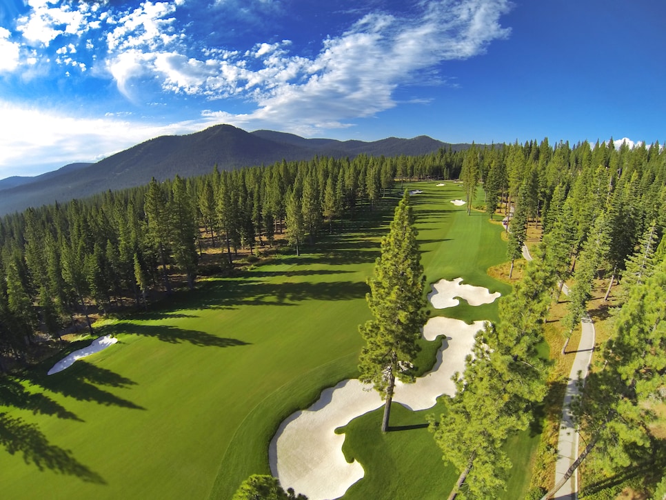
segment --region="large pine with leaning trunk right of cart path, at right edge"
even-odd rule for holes
[[[666,260],[654,274],[629,292],[616,314],[614,331],[603,348],[596,370],[588,374],[585,393],[574,417],[587,446],[561,481],[542,500],[552,496],[593,451],[598,466],[611,475],[645,457],[660,443],[652,434],[657,418],[654,404],[666,400]]]

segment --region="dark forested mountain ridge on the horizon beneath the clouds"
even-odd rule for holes
[[[120,190],[158,180],[259,166],[285,159],[298,161],[315,155],[356,157],[359,154],[390,157],[416,155],[447,148],[447,143],[430,137],[414,139],[390,137],[381,141],[337,141],[305,139],[294,134],[256,130],[245,132],[230,125],[217,125],[201,132],[162,136],[137,144],[97,163],[71,165],[37,177],[10,177],[0,181],[0,214],[25,210],[74,198],[84,198],[105,190]],[[451,145],[454,150],[469,145]]]

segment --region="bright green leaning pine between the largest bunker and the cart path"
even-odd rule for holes
[[[555,273],[547,248],[538,246],[525,276],[500,303],[500,322],[476,334],[465,373],[456,374],[456,395],[448,412],[428,417],[430,430],[474,498],[494,498],[505,488],[511,462],[503,450],[510,434],[527,428],[533,403],[546,394],[547,364],[538,354]]]

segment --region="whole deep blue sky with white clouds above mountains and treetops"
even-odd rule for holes
[[[666,140],[660,0],[2,0],[0,178],[216,123]]]

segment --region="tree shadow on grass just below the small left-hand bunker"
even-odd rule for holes
[[[47,375],[46,370],[32,369],[23,372],[22,376],[35,386],[79,401],[94,401],[105,406],[145,410],[145,408],[132,403],[132,401],[118,397],[98,387],[128,388],[137,385],[136,382],[81,359],[70,368],[52,375]]]

